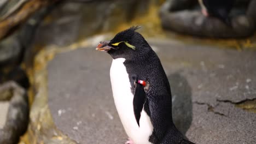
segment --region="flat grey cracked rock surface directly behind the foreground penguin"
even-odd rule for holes
[[[256,114],[237,104],[256,99],[256,52],[150,40],[170,81],[173,119],[196,143],[255,143]],[[124,143],[109,80],[112,59],[86,47],[49,63],[49,108],[79,143]],[[256,105],[256,104],[254,104]]]

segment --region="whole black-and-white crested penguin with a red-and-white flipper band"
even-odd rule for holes
[[[96,50],[112,58],[114,103],[129,136],[127,144],[192,144],[172,120],[171,88],[159,57],[133,26]]]

